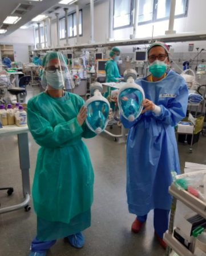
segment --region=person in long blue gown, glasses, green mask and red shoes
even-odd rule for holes
[[[142,115],[130,122],[121,115],[127,139],[127,202],[136,218],[132,231],[139,233],[154,210],[154,229],[160,245],[165,249],[163,234],[168,229],[172,196],[171,170],[180,174],[179,156],[174,126],[187,111],[188,89],[183,77],[169,70],[167,45],[155,42],[148,49],[151,75],[140,80],[145,93]]]

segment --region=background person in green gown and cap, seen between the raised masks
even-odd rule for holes
[[[118,65],[116,65],[116,61],[118,61],[120,58],[119,48],[116,48],[116,47],[112,48],[112,50],[110,51],[110,57],[111,59],[107,61],[105,66],[105,72],[107,77],[106,82],[118,82],[118,78],[120,76],[119,76]],[[110,95],[109,90],[115,90],[115,88],[107,87],[107,92],[104,93],[105,98],[107,98]],[[112,108],[112,111],[114,112],[115,103],[110,101],[110,106]]]

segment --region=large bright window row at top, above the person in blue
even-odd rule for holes
[[[175,18],[187,15],[189,0],[176,0]],[[139,25],[169,19],[171,0],[139,0]],[[134,24],[135,0],[114,0],[114,29]],[[131,22],[133,21],[133,22]]]

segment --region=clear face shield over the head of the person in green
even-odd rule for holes
[[[59,52],[48,53],[42,60],[42,87],[47,90],[73,89],[74,81],[67,68],[66,57]]]

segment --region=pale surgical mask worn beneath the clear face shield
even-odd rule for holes
[[[54,73],[46,71],[46,81],[52,88],[56,90],[61,89],[66,81],[66,73],[59,73],[57,69]]]

